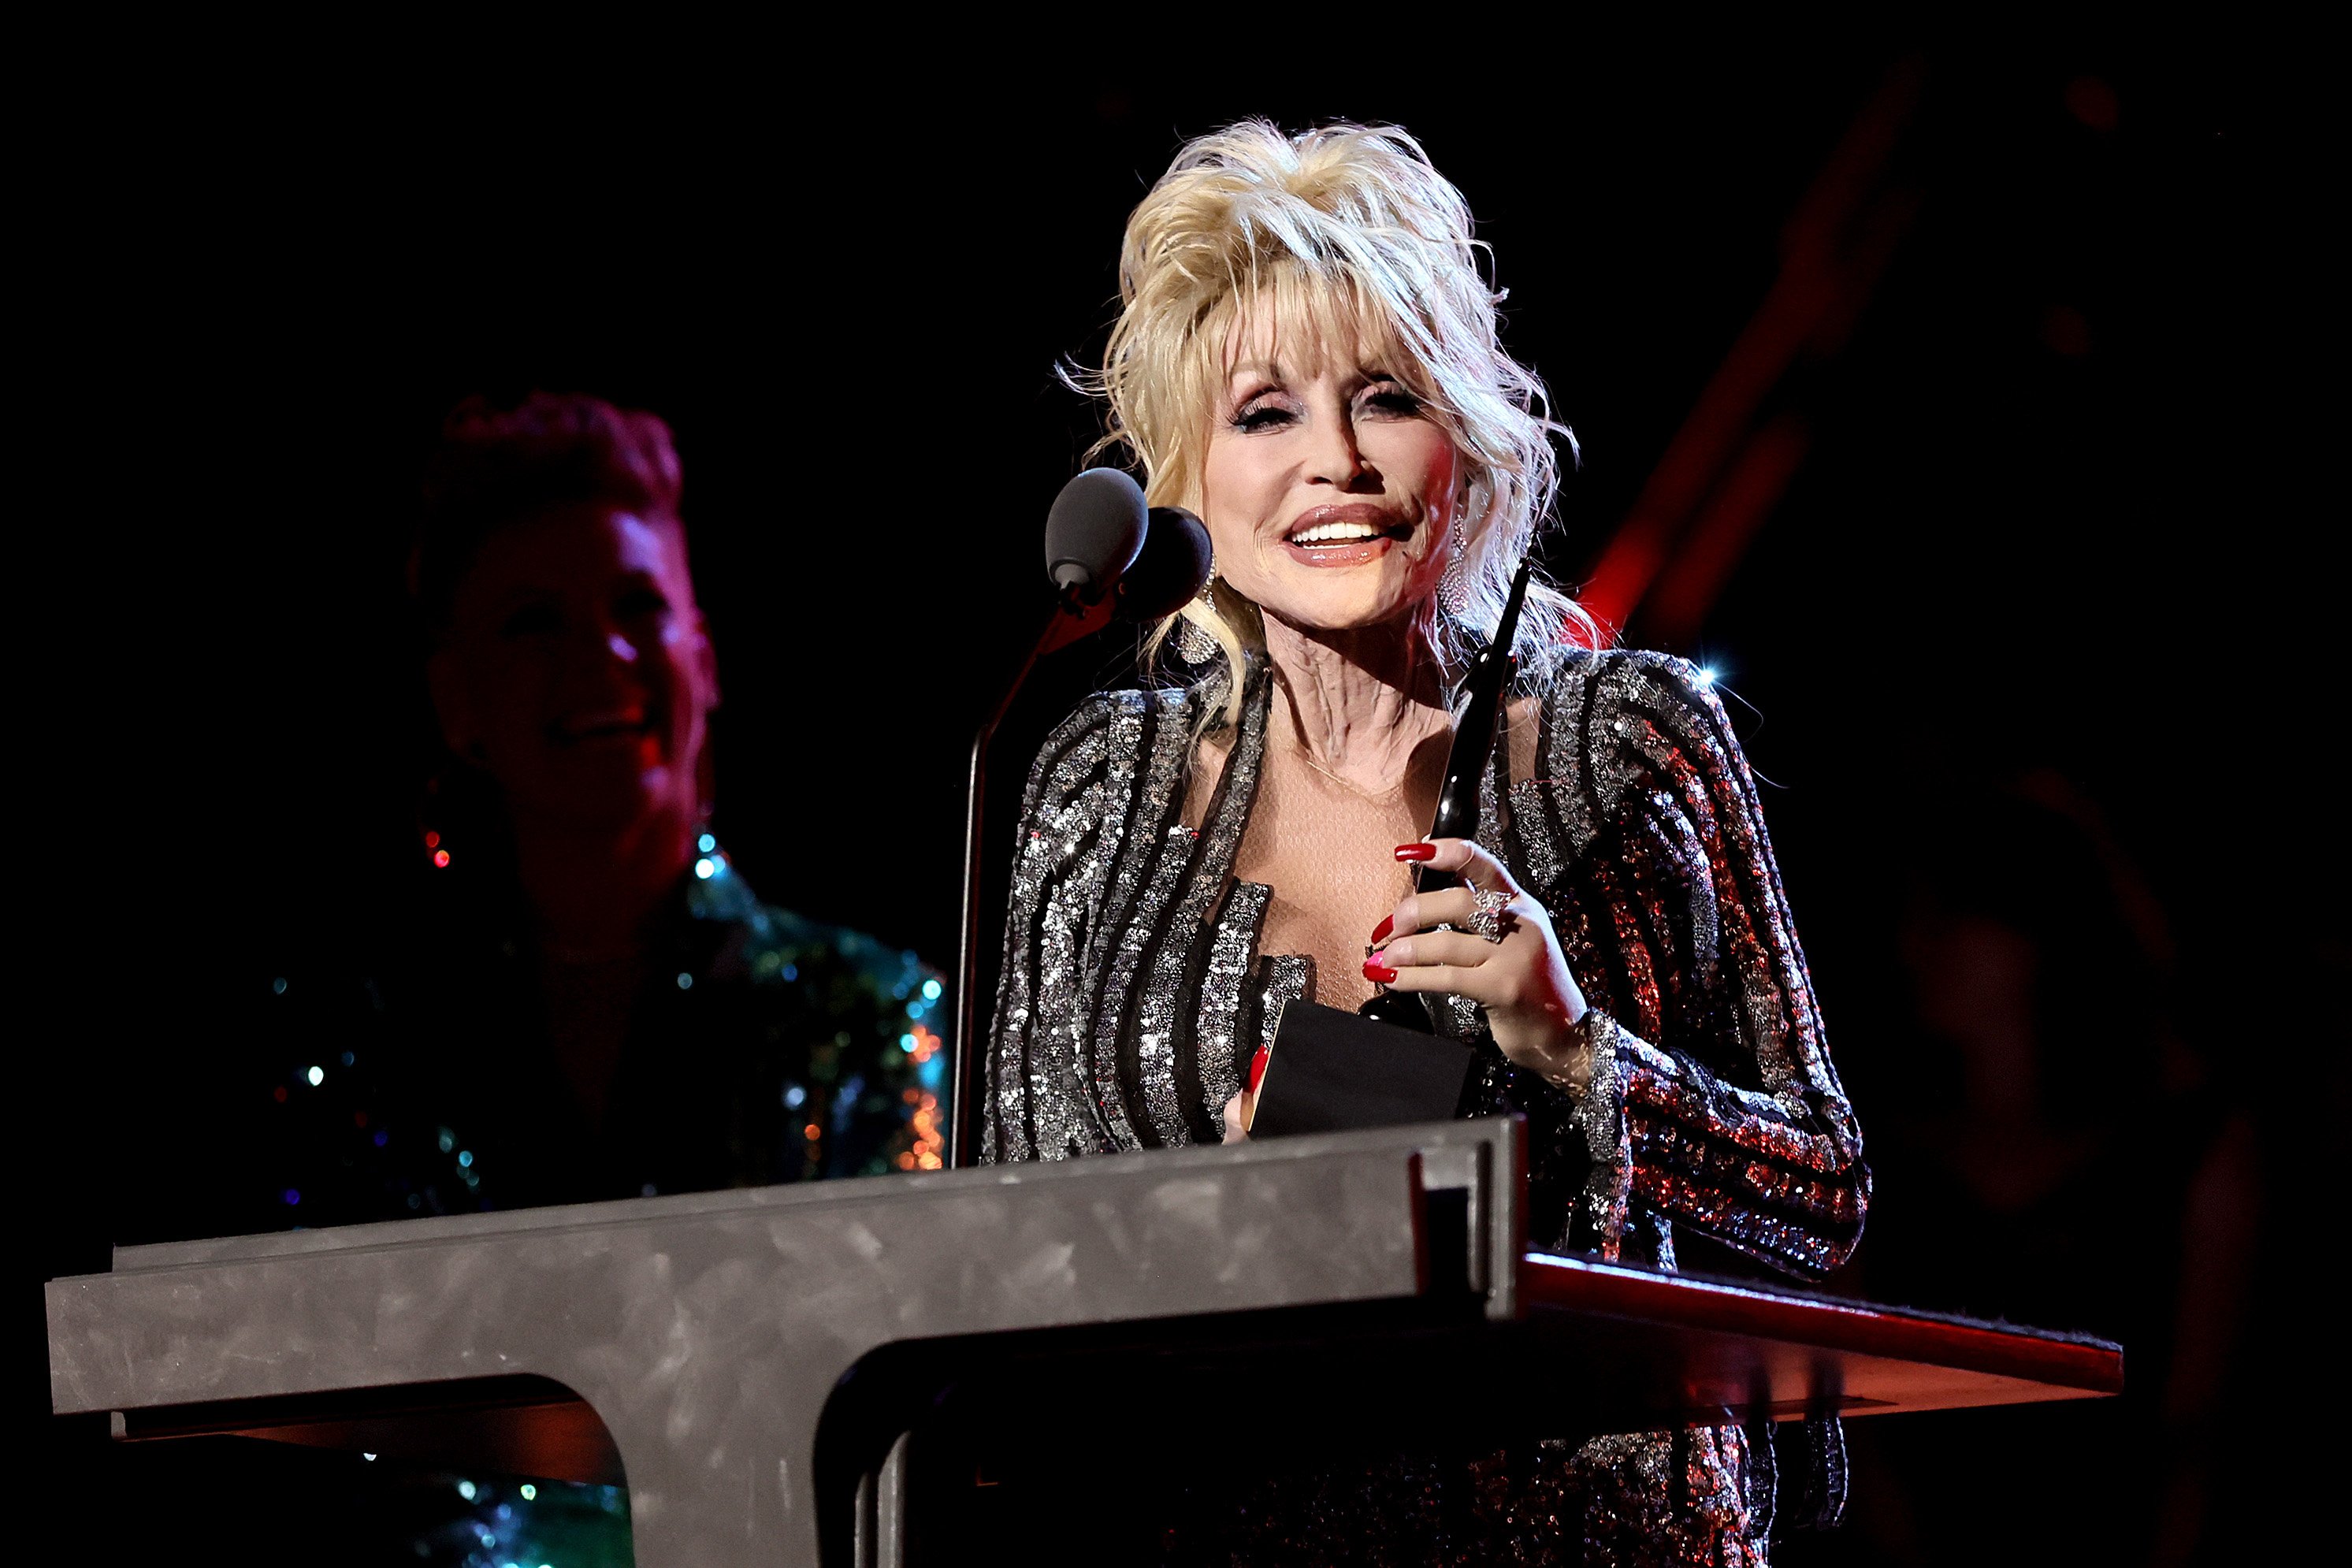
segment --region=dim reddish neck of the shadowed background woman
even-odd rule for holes
[[[635,957],[694,858],[694,825],[656,811],[614,835],[515,823],[522,891],[557,961]]]

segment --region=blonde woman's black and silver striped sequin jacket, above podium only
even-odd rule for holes
[[[1115,691],[1047,741],[1021,813],[988,1041],[983,1159],[1214,1143],[1310,959],[1261,954],[1235,882],[1270,682],[1183,823],[1200,696]],[[1472,1114],[1529,1119],[1531,1239],[1675,1267],[1696,1232],[1792,1272],[1853,1248],[1870,1175],[1722,703],[1679,658],[1571,656],[1536,693],[1536,776],[1496,745],[1484,839],[1559,931],[1592,1004],[1581,1098],[1479,1041]],[[1519,748],[1524,750],[1524,748]],[[1454,1009],[1477,1037],[1477,1011]]]

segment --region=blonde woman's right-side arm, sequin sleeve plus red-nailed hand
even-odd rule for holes
[[[1548,1237],[1616,1258],[1646,1211],[1837,1267],[1870,1178],[1722,705],[1682,661],[1613,654],[1545,729],[1552,776],[1505,835],[1552,870],[1541,898],[1477,844],[1402,846],[1465,886],[1399,903],[1367,976],[1479,1006],[1475,1107],[1529,1117]]]

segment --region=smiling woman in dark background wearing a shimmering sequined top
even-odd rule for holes
[[[416,903],[390,952],[254,987],[242,1197],[188,1229],[938,1166],[934,971],[762,903],[710,832],[717,661],[668,428],[595,397],[461,404],[412,576],[447,752]],[[379,1465],[358,1497],[334,1544],[362,1556],[628,1552],[621,1488]]]

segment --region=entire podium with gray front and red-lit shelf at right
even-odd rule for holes
[[[640,1568],[906,1563],[1122,1420],[1181,1462],[2122,1389],[2098,1340],[1529,1253],[1524,1201],[1477,1119],[134,1246],[47,1286],[49,1387],[132,1441],[626,1481]]]

